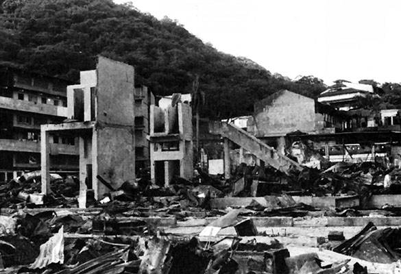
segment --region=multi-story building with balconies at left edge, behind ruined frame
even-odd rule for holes
[[[66,119],[70,82],[0,66],[0,182],[40,169],[40,125]],[[51,136],[51,171],[78,169],[75,138]]]

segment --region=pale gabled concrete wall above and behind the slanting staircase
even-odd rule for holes
[[[265,105],[262,105],[264,102]],[[284,136],[297,130],[315,131],[315,101],[311,98],[282,90],[270,100],[261,101],[255,108],[258,112],[254,115],[252,127],[258,137]]]

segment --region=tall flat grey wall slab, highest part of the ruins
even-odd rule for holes
[[[96,103],[97,166],[93,171],[118,188],[135,179],[134,68],[99,57]],[[104,192],[103,185],[95,188],[97,197]]]

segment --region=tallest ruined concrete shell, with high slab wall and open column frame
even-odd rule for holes
[[[134,91],[134,68],[103,57],[95,71],[81,73],[81,84],[68,87],[69,123],[40,128],[43,193],[49,190],[49,134],[79,138],[80,188],[93,189],[97,199],[135,179]]]

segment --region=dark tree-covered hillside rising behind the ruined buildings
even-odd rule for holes
[[[252,113],[253,103],[287,88],[315,97],[321,80],[291,82],[247,58],[205,45],[169,18],[158,21],[111,0],[0,0],[0,61],[77,81],[97,55],[131,64],[136,84],[155,95],[191,92],[195,75],[206,94],[202,116]]]

